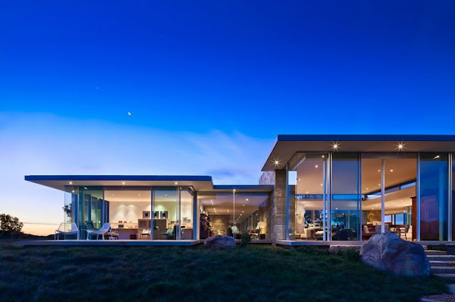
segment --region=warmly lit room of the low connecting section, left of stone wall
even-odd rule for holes
[[[198,193],[198,202],[201,240],[213,235],[240,240],[242,233],[252,240],[269,239],[268,194]]]

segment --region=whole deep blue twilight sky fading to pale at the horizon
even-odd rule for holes
[[[26,174],[257,184],[277,134],[454,134],[454,54],[453,1],[4,1],[0,213],[63,219]]]

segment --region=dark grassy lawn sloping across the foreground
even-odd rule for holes
[[[437,277],[394,276],[279,247],[14,247],[0,243],[2,301],[417,301]]]

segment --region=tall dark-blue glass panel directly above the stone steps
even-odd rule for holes
[[[447,240],[449,213],[449,155],[421,153],[420,240]]]

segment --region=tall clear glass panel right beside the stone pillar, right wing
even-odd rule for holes
[[[327,153],[299,152],[288,164],[289,238],[325,240]],[[324,234],[325,233],[325,234]]]

